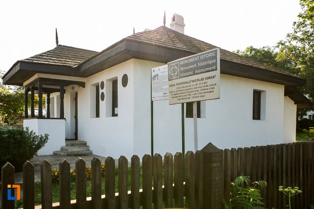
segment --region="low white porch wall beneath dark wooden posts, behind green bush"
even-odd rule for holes
[[[65,146],[65,121],[64,119],[24,119],[24,128],[28,127],[37,135],[49,134],[45,147],[40,149],[38,155],[51,155],[53,151]]]

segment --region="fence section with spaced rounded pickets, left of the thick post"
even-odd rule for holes
[[[198,159],[195,163],[195,157]],[[143,189],[139,189],[140,163],[138,156],[131,158],[131,191],[128,191],[128,161],[119,158],[118,190],[115,193],[115,160],[108,157],[105,161],[104,190],[101,194],[101,162],[98,158],[91,161],[91,197],[86,198],[86,163],[76,161],[76,200],[70,199],[70,166],[66,160],[59,163],[59,201],[52,203],[51,164],[45,160],[41,164],[42,205],[35,208],[162,208],[188,207],[202,208],[202,153],[186,153],[186,164],[182,153],[164,156],[164,186],[162,185],[163,161],[160,154],[142,159]],[[185,168],[185,173],[184,173]],[[184,182],[184,174],[185,182]],[[195,176],[197,174],[198,176]],[[173,178],[174,177],[174,178]],[[2,168],[2,208],[14,208],[14,201],[7,200],[7,185],[14,184],[14,167],[6,163]],[[173,184],[174,182],[174,184]],[[153,187],[154,185],[154,187]],[[23,208],[34,208],[34,166],[29,162],[23,165]],[[184,202],[185,196],[185,202]],[[184,205],[185,203],[185,205]]]

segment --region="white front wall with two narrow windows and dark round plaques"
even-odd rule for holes
[[[128,75],[126,88],[123,74]],[[118,116],[112,116],[112,80],[118,79]],[[95,117],[95,85],[104,81],[104,101],[99,102]],[[93,154],[130,157],[133,154],[133,60],[103,70],[86,78],[85,88],[78,88],[78,138],[87,141]],[[66,94],[68,91],[66,90]]]

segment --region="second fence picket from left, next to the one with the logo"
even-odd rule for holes
[[[34,165],[28,160],[23,164],[23,208],[33,209],[35,205]],[[4,191],[4,190],[2,190]]]

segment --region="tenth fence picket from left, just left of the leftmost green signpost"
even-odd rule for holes
[[[143,156],[143,208],[152,208],[153,191],[152,191],[152,157],[148,154]]]

